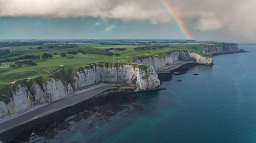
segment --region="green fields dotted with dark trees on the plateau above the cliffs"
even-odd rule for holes
[[[46,43],[49,44],[49,43]],[[54,44],[54,43],[50,43]],[[56,43],[55,43],[56,44]],[[64,42],[58,42],[58,44],[65,44]],[[134,57],[146,57],[146,56],[160,56],[165,57],[167,52],[173,52],[175,50],[183,51],[202,51],[205,46],[212,44],[220,44],[218,42],[205,42],[205,41],[172,41],[172,40],[119,40],[119,41],[90,41],[90,43],[71,43],[77,44],[77,47],[72,48],[44,48],[43,51],[38,50],[38,47],[42,45],[28,45],[28,46],[16,46],[12,47],[14,53],[19,55],[13,55],[8,57],[10,62],[3,62],[7,58],[0,57],[0,85],[7,84],[17,80],[36,78],[40,76],[51,75],[56,78],[62,75],[54,75],[52,73],[62,68],[77,68],[90,64],[97,63],[132,63]],[[138,48],[139,47],[139,48]],[[135,48],[140,50],[135,50]],[[0,48],[0,50],[8,49],[6,47]],[[77,52],[72,54],[71,51]],[[110,54],[113,55],[104,55]],[[50,59],[41,59],[42,54],[48,53],[53,56]],[[60,54],[66,53],[65,57]],[[20,58],[20,56],[35,55],[40,56],[38,60],[32,60],[36,63],[36,66],[26,66],[22,64],[18,67],[13,59]],[[18,61],[25,61],[18,60]],[[15,65],[10,68],[9,65]],[[62,70],[60,70],[62,72]],[[63,70],[63,72],[69,72]],[[70,80],[70,79],[63,79]]]

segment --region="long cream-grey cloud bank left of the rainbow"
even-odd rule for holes
[[[78,17],[92,16],[165,23],[170,17],[155,0],[0,0],[1,16]]]

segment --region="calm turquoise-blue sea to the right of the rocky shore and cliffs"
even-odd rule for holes
[[[215,56],[214,66],[163,82],[167,90],[134,95],[122,105],[130,110],[89,130],[80,121],[49,142],[256,142],[256,46],[240,48],[251,52]]]

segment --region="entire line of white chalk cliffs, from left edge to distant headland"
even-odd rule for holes
[[[228,53],[239,51],[237,44],[206,46],[202,53]],[[146,56],[134,58],[136,64],[101,63],[79,69],[63,68],[44,77],[19,80],[0,87],[0,120],[16,115],[38,104],[65,98],[79,90],[99,82],[132,85],[137,91],[159,88],[155,71],[164,71],[178,61],[193,61],[212,65],[212,57],[205,54],[177,50],[164,58]]]

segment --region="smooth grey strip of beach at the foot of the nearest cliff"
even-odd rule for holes
[[[30,110],[25,111],[24,113],[21,113],[20,115],[0,121],[0,132],[8,130],[22,123],[28,122],[32,119],[49,115],[52,112],[58,111],[68,106],[75,105],[83,100],[91,98],[105,90],[110,89],[115,89],[115,87],[112,87],[108,84],[95,85],[94,87],[77,91],[76,94],[71,95],[67,98],[63,98],[58,101],[42,105],[40,107],[32,108]]]

